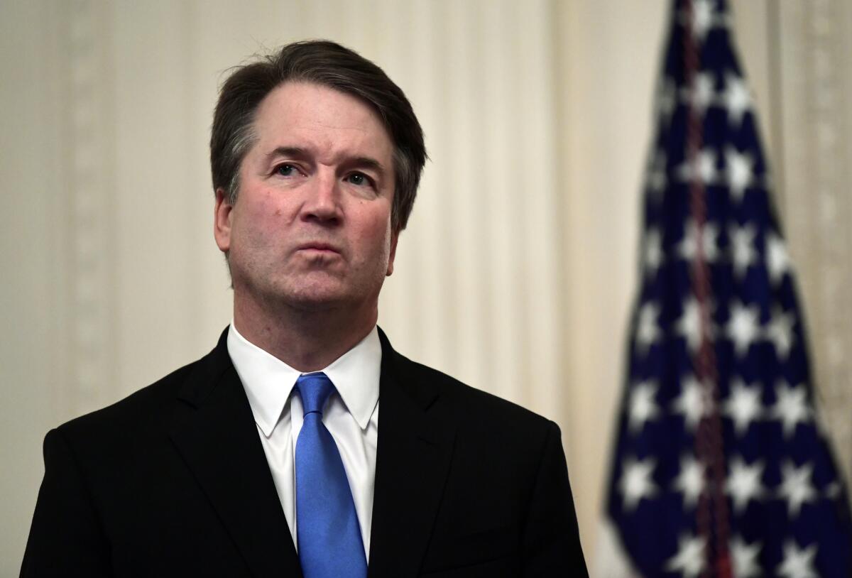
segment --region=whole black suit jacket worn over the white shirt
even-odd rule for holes
[[[216,349],[44,439],[22,576],[301,576]],[[369,576],[585,576],[559,429],[382,341]]]

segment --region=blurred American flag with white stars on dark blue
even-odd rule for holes
[[[676,0],[607,495],[637,574],[852,575],[804,323],[725,0]]]

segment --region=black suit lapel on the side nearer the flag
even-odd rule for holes
[[[376,487],[368,575],[419,574],[446,482],[455,416],[411,361],[382,340]]]

